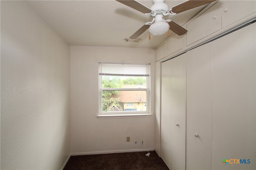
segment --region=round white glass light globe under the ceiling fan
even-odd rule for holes
[[[155,36],[161,36],[168,32],[169,28],[170,26],[167,22],[160,21],[152,24],[149,28],[149,32]]]

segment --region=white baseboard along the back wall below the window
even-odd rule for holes
[[[126,153],[126,152],[147,152],[154,151],[154,149],[127,149],[127,150],[106,150],[106,151],[94,151],[94,152],[76,152],[71,153],[71,156],[79,155],[94,155],[94,154],[114,154],[114,153]]]

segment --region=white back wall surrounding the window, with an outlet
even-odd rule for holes
[[[71,46],[70,62],[71,153],[154,148],[154,116],[98,119],[97,115],[99,62],[151,63],[151,113],[154,114],[155,50]],[[130,136],[130,142],[126,142],[126,136]]]

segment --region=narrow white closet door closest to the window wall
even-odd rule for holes
[[[185,169],[186,53],[162,63],[161,158],[168,168]]]

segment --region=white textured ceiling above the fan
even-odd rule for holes
[[[138,2],[148,8],[153,5],[151,0]],[[182,2],[184,0],[165,1],[169,8]],[[116,0],[29,0],[26,3],[70,45],[155,48],[168,38],[167,34],[151,35],[148,40],[147,30],[140,36],[140,42],[125,42],[125,38],[152,18]],[[204,7],[169,15],[165,19],[172,19],[182,26]]]

